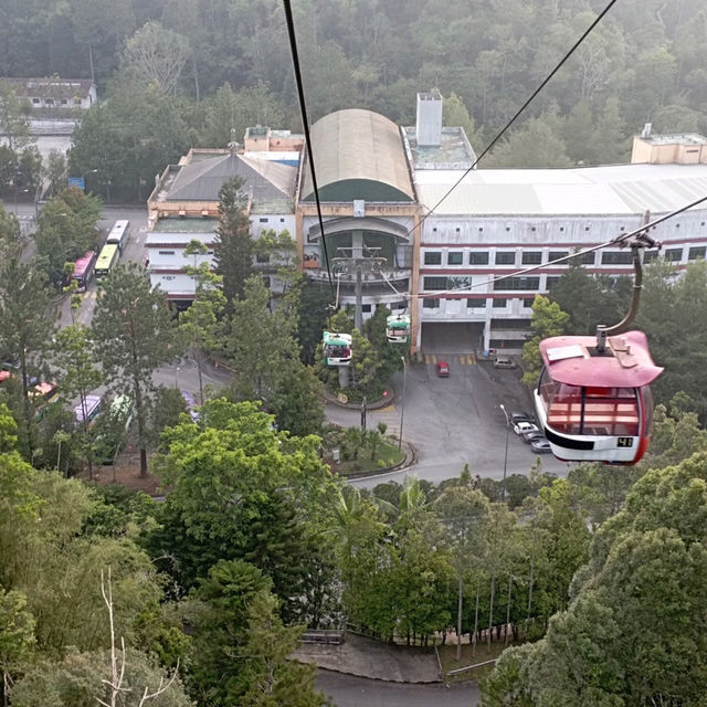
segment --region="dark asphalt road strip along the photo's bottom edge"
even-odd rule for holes
[[[337,707],[476,707],[478,687],[472,683],[410,685],[318,671],[317,688]]]

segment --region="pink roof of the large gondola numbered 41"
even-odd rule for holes
[[[595,348],[597,337],[593,336],[556,336],[540,341],[542,362],[550,378],[559,383],[642,388],[663,372],[651,358],[643,331],[606,337],[609,356],[591,356],[590,349]]]

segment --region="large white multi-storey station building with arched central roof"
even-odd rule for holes
[[[253,236],[287,229],[304,272],[327,287],[331,274],[339,306],[358,303],[363,318],[378,306],[409,313],[412,351],[453,341],[468,351],[519,354],[535,295],[547,294],[568,268],[552,261],[707,194],[707,139],[656,136],[650,126],[634,139],[632,163],[475,169],[464,131],[442,124],[437,93],[418,95],[414,126],[346,109],[315,123],[312,140],[324,238],[302,136],[258,126],[249,129],[244,148],[194,150],[165,171],[148,203],[148,250],[156,256],[172,250],[158,233],[183,233],[177,224],[193,221],[204,224],[200,238],[212,244],[218,191],[239,173]],[[706,223],[703,203],[651,235],[684,268],[705,257]],[[179,257],[177,251],[184,240],[172,239],[175,267],[183,268],[183,246]],[[585,254],[582,263],[610,276],[633,270],[630,251],[620,247]],[[539,267],[495,281],[530,266]],[[176,298],[169,267],[150,255],[154,284],[167,288],[162,276],[173,276],[167,292]],[[188,298],[187,289],[179,293]]]

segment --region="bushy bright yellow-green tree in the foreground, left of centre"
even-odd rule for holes
[[[172,492],[152,552],[176,558],[184,588],[219,558],[246,558],[272,578],[286,612],[306,612],[297,604],[317,580],[307,568],[324,552],[313,538],[333,495],[317,437],[277,432],[254,403],[207,401],[200,414],[199,426],[162,433],[155,467]]]

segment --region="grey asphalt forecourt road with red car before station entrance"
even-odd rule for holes
[[[398,373],[393,386],[398,391],[393,404],[369,411],[368,426],[379,422],[388,425],[389,433],[398,434],[401,412],[403,439],[418,454],[411,469],[393,472],[383,477],[352,482],[357,486],[373,487],[381,481],[402,483],[408,474],[439,483],[458,476],[467,463],[473,474],[500,479],[506,474],[527,474],[538,458],[530,446],[506,428],[506,410],[532,412],[529,395],[519,382],[518,370],[497,370],[489,361],[478,361],[471,354],[445,355],[450,377],[437,378],[433,357],[426,363],[412,363],[408,368],[402,397],[403,373]],[[328,418],[345,426],[360,424],[357,410],[329,405]],[[506,460],[506,441],[508,455]],[[567,463],[550,454],[540,456],[542,468],[558,475],[567,474]]]

